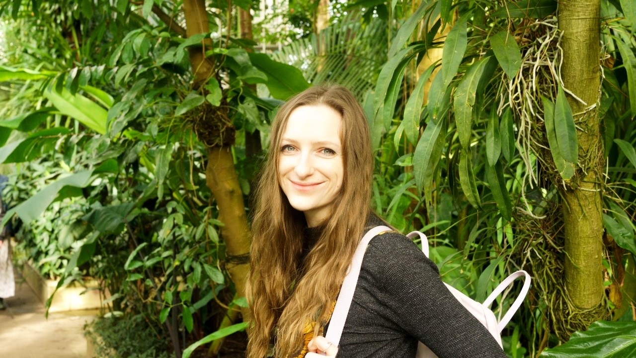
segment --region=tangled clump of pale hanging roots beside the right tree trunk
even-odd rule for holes
[[[563,55],[560,41],[562,32],[558,30],[556,18],[537,20],[518,27],[515,33],[522,48],[522,66],[515,78],[502,74],[502,84],[497,96],[500,98],[498,113],[502,115],[507,108],[513,112],[518,131],[517,148],[527,168],[521,183],[520,202],[525,208],[516,210],[513,222],[516,232],[526,236],[518,253],[523,266],[532,270],[533,284],[536,290],[536,306],[543,312],[543,327],[539,341],[539,350],[548,346],[551,333],[560,341],[569,340],[574,331],[585,329],[592,322],[590,310],[581,310],[574,306],[567,295],[565,282],[565,250],[563,238],[563,220],[559,213],[558,192],[551,186],[566,187],[555,166],[548,144],[544,121],[542,97],[555,102],[557,90],[564,88],[560,76],[560,64]],[[575,97],[576,98],[576,97]],[[576,175],[570,180],[575,180]],[[542,199],[530,203],[525,190],[541,190]],[[523,246],[523,247],[522,247]],[[594,308],[595,313],[605,310]]]

